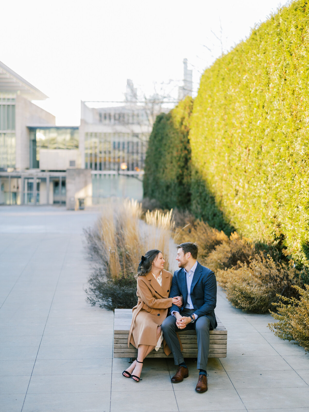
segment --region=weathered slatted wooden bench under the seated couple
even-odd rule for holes
[[[210,330],[209,358],[226,358],[227,330],[216,316],[218,326]],[[136,358],[137,349],[130,344],[128,348],[128,335],[132,320],[132,309],[115,309],[114,317],[114,358]],[[178,332],[183,345],[185,358],[197,358],[197,334],[195,330],[183,330]],[[163,351],[151,351],[148,358],[173,358]]]

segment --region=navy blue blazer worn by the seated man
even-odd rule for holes
[[[183,295],[184,306],[179,308],[173,304],[170,313],[172,311],[181,312],[187,304],[188,288],[186,273],[183,268],[174,272],[171,292],[169,294],[170,297],[180,295]],[[197,267],[193,275],[190,297],[194,306],[194,313],[196,313],[197,316],[207,316],[210,320],[211,328],[215,329],[217,327],[214,310],[217,303],[217,281],[213,271],[200,265],[199,262],[197,262]]]

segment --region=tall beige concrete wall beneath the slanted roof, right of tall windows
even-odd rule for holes
[[[20,95],[16,96],[15,108],[16,169],[28,169],[30,165],[30,142],[27,126],[37,124],[56,124],[56,118],[46,110]]]

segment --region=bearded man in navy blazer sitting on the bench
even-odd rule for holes
[[[189,371],[180,351],[177,330],[195,329],[197,332],[197,369],[199,380],[195,390],[207,391],[207,362],[209,353],[209,330],[217,327],[215,306],[217,301],[217,283],[215,274],[197,262],[197,244],[185,242],[177,245],[179,270],[173,276],[170,296],[183,295],[183,307],[172,305],[170,316],[162,323],[164,339],[171,349],[176,374],[173,383],[182,382],[189,376]]]

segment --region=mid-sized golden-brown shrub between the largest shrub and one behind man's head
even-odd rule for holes
[[[215,246],[205,263],[213,271],[230,267],[237,268],[241,263],[249,263],[255,253],[255,244],[249,239],[240,238],[234,232],[229,239]]]

